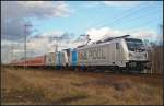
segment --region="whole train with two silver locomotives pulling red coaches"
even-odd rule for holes
[[[109,37],[91,45],[13,61],[11,64],[57,70],[113,70],[114,72],[142,72],[150,69],[148,51],[143,42],[128,36],[130,35]]]

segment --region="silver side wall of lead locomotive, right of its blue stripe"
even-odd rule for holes
[[[125,66],[127,58],[124,42],[118,39],[78,49],[79,66]],[[125,62],[125,63],[124,63]]]

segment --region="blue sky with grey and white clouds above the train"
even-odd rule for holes
[[[159,42],[163,1],[1,1],[2,61],[23,57],[26,23],[32,25],[28,57],[54,51],[52,37],[61,37],[59,50],[84,44],[82,34],[89,34],[91,43],[124,34]]]

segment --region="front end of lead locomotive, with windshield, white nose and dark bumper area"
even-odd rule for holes
[[[130,70],[142,71],[150,69],[148,51],[141,39],[125,38],[128,49],[128,62],[126,68]]]

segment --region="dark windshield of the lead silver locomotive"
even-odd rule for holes
[[[128,49],[131,51],[140,50],[144,51],[144,45],[141,39],[136,39],[136,38],[125,38]]]

